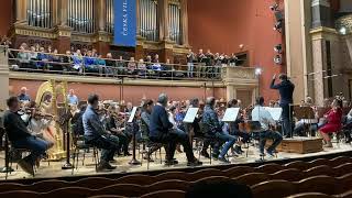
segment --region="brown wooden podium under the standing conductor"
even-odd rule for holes
[[[271,142],[271,141],[267,141],[267,142]],[[322,151],[322,139],[320,138],[284,139],[276,150],[278,152],[299,153],[299,154],[317,153]]]

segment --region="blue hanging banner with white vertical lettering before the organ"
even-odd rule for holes
[[[113,44],[136,45],[136,0],[114,0]]]

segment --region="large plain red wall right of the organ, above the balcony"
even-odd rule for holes
[[[283,0],[280,0],[280,7]],[[282,43],[280,33],[273,30],[276,21],[270,6],[274,0],[190,0],[188,1],[189,42],[195,52],[210,48],[212,53],[239,53],[240,44],[249,52],[250,66],[261,66],[261,95],[276,99],[270,90],[273,74],[285,66],[274,64],[274,46]]]

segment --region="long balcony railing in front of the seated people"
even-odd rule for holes
[[[57,75],[100,76],[110,78],[141,78],[165,80],[222,80],[226,65],[206,66],[151,63],[144,61],[109,59],[77,54],[52,54],[9,50],[9,69]]]

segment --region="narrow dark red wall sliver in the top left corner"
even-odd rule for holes
[[[2,0],[0,7],[0,36],[7,35],[12,19],[12,0]]]

